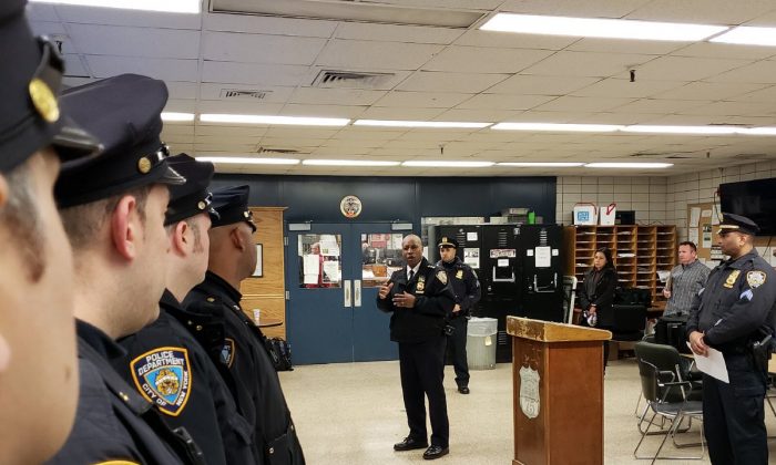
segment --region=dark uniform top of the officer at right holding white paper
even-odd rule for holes
[[[687,335],[701,331],[723,353],[742,350],[763,326],[774,331],[776,272],[754,249],[714,268],[698,297]]]

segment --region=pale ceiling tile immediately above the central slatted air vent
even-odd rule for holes
[[[333,40],[316,60],[320,66],[348,70],[417,70],[442,50],[441,45],[400,42]]]

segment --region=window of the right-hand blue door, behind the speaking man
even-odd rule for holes
[[[361,235],[361,281],[372,288],[381,286],[404,266],[400,232]]]

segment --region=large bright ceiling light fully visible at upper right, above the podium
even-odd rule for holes
[[[695,42],[728,28],[678,22],[498,13],[480,29],[523,34]]]

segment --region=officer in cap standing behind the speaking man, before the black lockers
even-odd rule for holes
[[[447,236],[437,245],[441,259],[437,267],[441,267],[447,272],[448,282],[456,294],[456,306],[452,308],[450,326],[452,334],[447,337],[448,350],[452,352],[452,366],[456,370],[456,384],[461,394],[469,393],[469,363],[466,355],[466,337],[471,309],[480,301],[480,281],[477,273],[470,266],[464,264],[456,251],[458,242]]]

